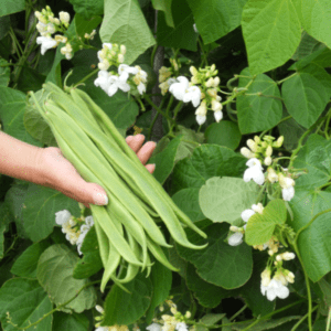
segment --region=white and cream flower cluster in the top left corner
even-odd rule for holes
[[[61,53],[67,60],[71,60],[73,57],[73,47],[67,42],[67,38],[61,34],[56,34],[54,39],[52,38],[52,34],[55,32],[65,32],[68,28],[71,15],[67,12],[61,11],[58,13],[60,19],[56,19],[49,6],[41,12],[35,11],[34,15],[39,20],[36,29],[41,36],[36,39],[36,43],[41,45],[41,54],[44,55],[47,50],[56,47],[58,43],[64,43],[65,46],[61,49]]]

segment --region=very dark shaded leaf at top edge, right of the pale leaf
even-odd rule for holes
[[[172,1],[174,28],[168,26],[163,12],[158,13],[158,44],[167,47],[196,51],[197,33],[193,29],[193,13],[189,0]]]

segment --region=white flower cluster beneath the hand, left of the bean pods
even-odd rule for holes
[[[62,232],[65,234],[65,238],[72,244],[77,245],[77,252],[82,255],[82,244],[84,238],[94,225],[93,216],[85,217],[84,221],[79,221],[74,217],[70,211],[63,210],[55,213],[56,224],[62,226]],[[82,223],[82,225],[79,225]]]

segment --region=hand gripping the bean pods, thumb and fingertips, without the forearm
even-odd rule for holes
[[[126,138],[128,146],[137,153],[141,163],[146,164],[157,145],[153,141],[143,143],[143,135],[128,136]],[[57,190],[83,203],[86,207],[89,207],[89,203],[97,205],[108,203],[106,191],[97,183],[86,182],[74,166],[64,158],[60,148],[49,147],[43,149],[41,163],[42,172],[45,177],[44,186]],[[156,169],[154,164],[145,167],[150,173]]]

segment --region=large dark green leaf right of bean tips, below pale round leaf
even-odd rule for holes
[[[177,244],[179,255],[192,263],[197,275],[207,282],[225,289],[243,286],[253,270],[252,247],[245,243],[229,246],[225,242],[228,224],[212,224],[203,231],[207,235],[207,247],[193,250]],[[188,238],[196,245],[205,243],[205,239],[192,231],[188,231]]]

